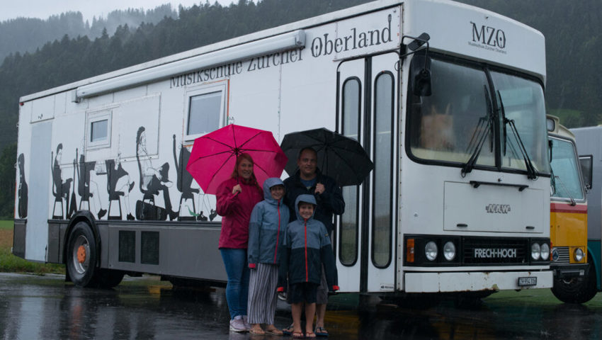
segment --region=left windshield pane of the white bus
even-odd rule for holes
[[[477,165],[494,166],[491,101],[482,69],[431,61],[431,96],[411,96],[409,147],[419,159],[464,164],[487,134]],[[493,123],[493,122],[492,122]]]

